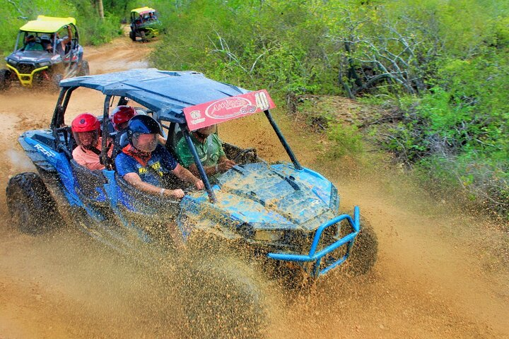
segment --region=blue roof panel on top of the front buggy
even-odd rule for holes
[[[129,71],[80,76],[62,80],[60,86],[86,87],[105,95],[129,97],[158,115],[158,119],[185,122],[182,109],[204,102],[250,92],[234,85],[220,83],[194,71]]]

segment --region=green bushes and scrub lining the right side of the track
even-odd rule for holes
[[[399,160],[505,206],[507,1],[174,4],[168,35],[151,57],[156,66],[269,88],[291,112],[302,94],[385,97],[400,117],[379,133]],[[360,150],[352,126],[329,122],[328,136],[335,156]]]

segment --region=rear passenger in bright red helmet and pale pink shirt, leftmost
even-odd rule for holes
[[[99,136],[100,122],[90,113],[79,114],[71,123],[74,140],[78,147],[73,150],[73,158],[78,165],[90,170],[105,169],[100,161],[103,138]],[[111,144],[110,144],[111,145]],[[108,147],[110,148],[110,147]],[[108,151],[111,156],[112,149]]]

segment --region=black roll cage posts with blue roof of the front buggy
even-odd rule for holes
[[[147,107],[152,112],[153,118],[165,129],[168,129],[167,147],[171,147],[172,145],[175,125],[180,127],[182,136],[186,139],[187,146],[194,157],[194,162],[204,182],[209,199],[211,202],[216,203],[217,199],[211,187],[211,183],[205,174],[205,169],[199,160],[197,150],[189,135],[189,126],[185,110],[192,111],[194,108],[209,105],[210,99],[221,101],[228,97],[242,97],[242,93],[249,93],[249,91],[233,85],[212,81],[211,79],[205,78],[201,73],[193,71],[170,72],[159,71],[157,69],[134,69],[131,71],[98,76],[69,78],[62,81],[60,85],[62,90],[59,93],[57,105],[54,109],[50,124],[50,129],[54,136],[55,150],[64,151],[69,155],[68,141],[71,136],[69,135],[69,126],[65,126],[64,124],[64,115],[67,105],[69,105],[71,94],[76,88],[93,88],[105,94],[101,126],[103,131],[108,131],[112,100],[114,100],[115,97],[119,97],[117,105],[127,105],[129,100],[134,100]],[[187,89],[192,90],[192,93],[188,93],[186,91]],[[211,95],[211,91],[213,91],[213,95]],[[264,109],[263,112],[295,168],[298,170],[302,169],[303,167],[298,162],[290,145],[286,142],[286,139],[281,133],[279,126],[277,126],[276,121],[274,121],[269,109]],[[62,143],[62,138],[60,138],[59,133],[64,134],[64,143]],[[100,157],[103,163],[106,164],[107,138],[103,138],[102,149]]]

